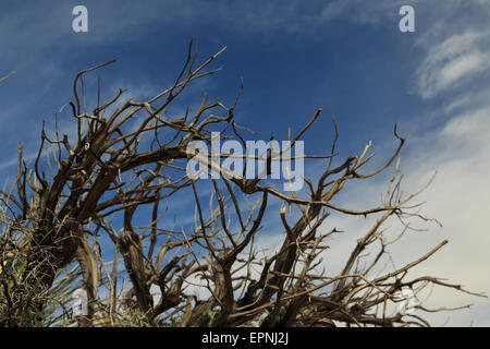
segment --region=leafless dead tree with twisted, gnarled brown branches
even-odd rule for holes
[[[326,164],[316,182],[305,179],[306,193],[265,184],[264,173],[248,179],[224,176],[226,169],[216,159],[231,158],[230,153],[191,154],[191,142],[199,140],[211,145],[216,131],[246,148],[244,132],[248,130],[234,118],[242,88],[231,107],[218,99],[208,100],[205,94],[194,115],[188,110],[181,118],[167,113],[189,84],[220,70],[209,67],[223,51],[196,67],[197,50],[191,43],[185,64],[170,88],[149,100],[124,103],[123,89],[105,103],[100,101],[99,89],[91,112],[85,107],[83,79],[114,61],[78,72],[73,84],[74,99],[62,108],[76,124],[76,136],[60,135],[58,130],[56,136],[49,136],[42,129],[39,152],[32,165],[23,160],[21,144],[16,193],[2,192],[5,215],[10,217],[3,222],[4,231],[22,224],[22,246],[32,252],[26,256],[21,282],[3,288],[10,290],[5,294],[11,301],[3,321],[0,317],[1,324],[14,325],[5,320],[14,313],[19,317],[29,309],[41,310],[45,298],[34,294],[46,294],[59,272],[74,261],[82,269],[88,294],[85,325],[121,325],[128,313],[139,313],[150,326],[425,326],[428,323],[420,316],[387,314],[387,306],[396,301],[403,288],[419,290],[438,285],[479,296],[432,276],[407,279],[408,270],[448,241],[401,268],[377,276],[371,273],[389,253],[391,242],[384,238],[383,224],[390,217],[403,222],[401,234],[411,229],[407,219],[428,220],[414,210],[418,205],[413,201],[419,192],[403,196],[400,190],[404,139],[396,128],[399,146],[393,155],[379,168],[364,171],[373,157],[371,144],[359,155],[338,161],[334,123],[330,151],[304,156]],[[289,136],[291,146],[304,137],[320,113],[318,109],[294,137]],[[269,151],[258,156],[247,154],[245,158],[264,160],[265,174],[270,174],[273,152]],[[199,198],[199,183],[205,180],[186,172],[185,164],[193,157],[205,164],[208,172],[223,174],[206,180],[212,188],[209,212]],[[378,207],[356,210],[333,203],[348,182],[366,180],[393,167]],[[162,227],[162,207],[171,206],[177,192],[186,192],[195,207],[196,221],[191,230]],[[247,197],[255,203],[247,205]],[[271,200],[282,203],[279,212],[270,212]],[[150,224],[138,227],[138,209],[148,205],[152,205]],[[339,232],[328,228],[332,214],[378,216],[371,229],[357,240],[338,275],[320,270],[328,239]],[[260,257],[256,241],[267,231],[268,215],[279,215],[284,238],[277,252]],[[100,249],[102,236],[112,242],[109,252]],[[379,251],[371,257],[363,254],[376,244]],[[122,275],[130,279],[128,288],[121,286]],[[151,286],[159,289],[158,303],[154,302]],[[101,287],[108,291],[105,298],[99,297]],[[208,296],[189,291],[196,288]]]

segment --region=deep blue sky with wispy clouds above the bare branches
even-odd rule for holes
[[[88,33],[72,31],[76,4],[88,9]],[[404,4],[415,9],[415,33],[399,29]],[[215,64],[224,70],[196,84],[185,103],[195,105],[208,92],[231,105],[243,79],[237,120],[266,140],[272,133],[285,139],[287,128],[299,130],[322,107],[306,153],[330,146],[334,115],[341,154],[358,154],[372,140],[383,159],[395,145],[397,123],[407,139],[407,191],[439,170],[427,210],[444,225],[400,253],[415,257],[449,237],[449,252],[427,270],[488,291],[489,20],[488,0],[2,0],[0,76],[15,74],[0,84],[0,174],[14,176],[20,141],[27,155],[36,151],[42,120],[52,124],[70,100],[77,71],[115,58],[99,72],[102,97],[124,87],[132,98],[147,98],[173,82],[191,38],[201,59],[226,46]],[[347,191],[354,197],[345,201],[358,208],[378,200],[383,179]],[[487,300],[453,297],[437,296],[476,305],[451,314],[449,324],[490,325]],[[436,324],[445,322],[438,316]]]

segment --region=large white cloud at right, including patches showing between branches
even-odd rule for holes
[[[414,269],[411,277],[441,277],[450,284],[462,285],[467,290],[490,294],[490,103],[482,103],[479,96],[467,96],[451,112],[454,110],[457,113],[446,115],[451,118],[439,129],[407,137],[409,148],[403,152],[401,165],[405,174],[402,190],[407,194],[418,191],[438,171],[434,182],[417,202],[426,202],[421,214],[437,218],[443,227],[414,221],[414,227],[428,230],[407,233],[399,243],[390,246],[390,252],[394,265],[401,267],[448,239],[449,244]],[[375,147],[375,151],[379,149],[380,147]],[[383,156],[384,154],[377,155]],[[378,204],[385,191],[391,169],[384,174],[379,176],[376,181],[360,181],[347,186],[340,204],[357,209]],[[328,242],[330,249],[324,253],[322,266],[329,276],[340,273],[355,248],[356,240],[367,232],[373,218],[334,214],[326,220],[326,231],[334,227],[344,231],[333,236]],[[396,236],[401,230],[396,220],[388,222],[385,227],[390,228],[389,237]],[[274,249],[282,239],[282,232],[262,233],[257,242],[260,246]],[[384,272],[390,272],[393,267],[390,263]],[[425,301],[428,296],[430,297]],[[436,287],[431,294],[418,294],[418,298],[429,309],[474,304],[470,310],[425,313],[424,317],[434,326],[490,325],[487,312],[489,299],[441,287]]]

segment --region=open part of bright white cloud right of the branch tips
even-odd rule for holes
[[[426,210],[437,217],[443,228],[438,229],[439,239],[450,243],[419,273],[436,274],[462,282],[473,291],[490,290],[488,267],[490,266],[490,108],[463,112],[450,120],[440,131],[425,136],[431,146],[415,146],[415,152],[405,160],[407,177],[412,185],[427,178],[433,169],[439,174],[433,185],[425,193]],[[431,239],[430,239],[431,240]],[[430,241],[429,240],[429,241]],[[415,251],[420,244],[409,250]],[[488,299],[476,299],[454,292],[434,292],[436,303],[461,305],[475,303],[475,310],[453,314],[453,325],[488,325],[490,318],[482,309],[488,309]],[[477,317],[478,316],[478,317]],[[475,318],[477,317],[477,318]],[[439,317],[440,322],[441,317]]]

